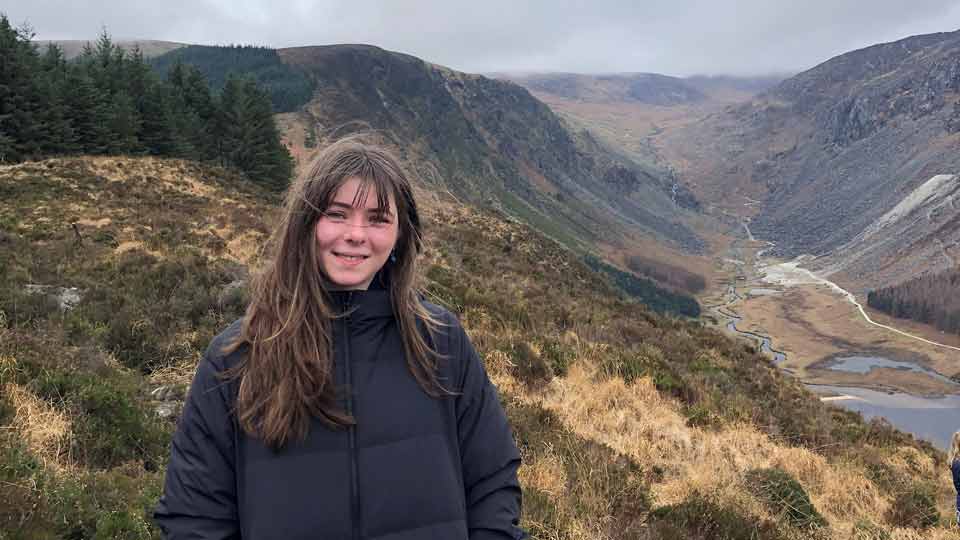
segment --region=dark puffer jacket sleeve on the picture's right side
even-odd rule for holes
[[[454,319],[451,353],[461,363],[457,429],[470,540],[519,540],[520,452],[477,352]]]

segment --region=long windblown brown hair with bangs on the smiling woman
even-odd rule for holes
[[[273,254],[255,278],[252,300],[237,340],[227,350],[249,344],[244,360],[228,376],[239,380],[236,414],[241,428],[273,448],[303,439],[310,420],[344,427],[353,418],[337,404],[333,380],[332,321],[341,316],[320,270],[314,228],[337,190],[350,178],[373,189],[380,208],[392,194],[399,236],[395,260],[384,265],[390,301],[403,339],[407,365],[425,392],[447,393],[437,376],[437,355],[418,328],[438,322],[420,301],[417,254],[422,248],[420,218],[413,190],[397,159],[361,137],[325,148],[306,174],[287,190]]]

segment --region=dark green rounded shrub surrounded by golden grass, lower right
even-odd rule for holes
[[[804,529],[827,525],[806,490],[787,471],[777,467],[753,469],[747,473],[746,483],[772,514],[791,525]]]

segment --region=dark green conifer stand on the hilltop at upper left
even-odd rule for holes
[[[195,67],[158,76],[143,53],[106,31],[67,61],[0,14],[0,163],[70,154],[179,157],[215,162],[283,188],[293,159],[280,140],[269,94],[228,75],[214,93]]]

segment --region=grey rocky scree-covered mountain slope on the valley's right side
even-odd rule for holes
[[[960,32],[952,32],[840,55],[659,143],[700,197],[756,212],[754,234],[780,254],[875,251],[879,258],[833,261],[867,269],[892,258],[944,260],[938,240],[953,249],[949,206],[936,219],[867,231],[931,179],[960,171],[958,132]],[[910,268],[855,278],[883,282]]]

